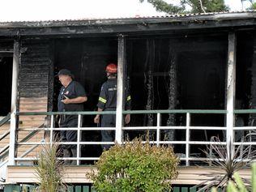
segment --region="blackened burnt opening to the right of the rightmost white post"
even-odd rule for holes
[[[256,38],[255,32],[237,32],[236,103],[235,109],[256,109]],[[236,114],[236,126],[255,126],[254,113]],[[248,134],[235,130],[235,141]]]

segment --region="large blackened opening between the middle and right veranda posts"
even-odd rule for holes
[[[130,38],[126,60],[133,109],[225,109],[227,54],[227,34]],[[185,126],[186,114],[166,114],[161,120],[161,126]],[[156,126],[156,115],[133,116],[131,124]],[[191,115],[191,126],[224,125],[225,114]],[[161,139],[186,139],[184,130],[161,134]],[[209,141],[211,136],[222,139],[223,133],[190,131],[192,141]],[[156,133],[152,137],[156,139]],[[185,153],[185,145],[175,145],[174,150]],[[198,152],[191,147],[190,153]]]

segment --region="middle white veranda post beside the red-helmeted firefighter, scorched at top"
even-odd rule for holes
[[[117,111],[116,111],[116,141],[122,143],[122,110],[124,105],[124,66],[125,66],[125,38],[118,36],[118,63],[117,63]]]

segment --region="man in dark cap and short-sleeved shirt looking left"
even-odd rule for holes
[[[61,90],[58,95],[58,111],[83,111],[83,103],[87,101],[87,96],[83,86],[74,81],[74,76],[70,70],[62,69],[58,72],[58,79],[62,83]],[[78,115],[61,115],[59,121],[60,127],[77,127]],[[76,130],[61,130],[62,141],[75,142],[77,139]],[[76,147],[74,145],[63,145],[63,156],[77,156]],[[75,164],[75,160],[71,161]],[[70,161],[66,161],[70,163]]]

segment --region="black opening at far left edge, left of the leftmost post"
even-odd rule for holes
[[[11,112],[12,62],[12,57],[2,57],[0,55],[0,77],[2,79],[0,116],[6,116]]]

